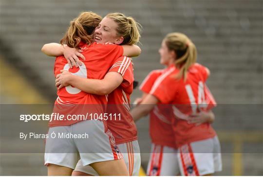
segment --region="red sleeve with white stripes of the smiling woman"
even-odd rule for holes
[[[123,76],[122,86],[130,86],[134,81],[131,58],[121,56],[117,58],[109,72],[118,72]]]

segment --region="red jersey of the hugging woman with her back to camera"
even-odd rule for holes
[[[71,69],[65,57],[62,55],[58,56],[54,66],[55,77],[60,73],[60,70],[67,70],[79,77],[103,79],[116,58],[123,54],[122,46],[111,43],[99,44],[94,42],[91,45],[87,45],[81,42],[79,47],[86,58],[86,60],[82,61],[82,66]],[[107,97],[105,95],[89,94],[72,86],[67,86],[57,90],[57,99],[53,112],[64,114],[65,117],[68,114],[84,115],[85,120],[89,120],[95,113],[98,116],[103,115],[106,111],[106,105]],[[63,121],[53,120],[49,123],[49,126],[70,125],[79,121],[81,120],[68,120],[65,118]]]

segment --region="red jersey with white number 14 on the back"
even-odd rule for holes
[[[205,86],[207,80],[206,67],[200,64],[193,64],[188,69],[187,80],[175,78],[179,73],[174,65],[163,73],[155,82],[150,94],[157,97],[162,104],[170,104],[173,115],[172,128],[175,136],[176,146],[213,138],[216,133],[209,123],[196,126],[188,124],[188,115],[199,112],[200,110],[211,109],[216,105],[211,93],[207,92]],[[208,102],[208,103],[207,103]],[[207,105],[209,104],[209,105]]]

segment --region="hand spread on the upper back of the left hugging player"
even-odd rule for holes
[[[82,58],[83,60],[86,60],[85,56],[81,54],[82,52],[83,51],[80,49],[70,48],[67,45],[64,45],[63,53],[68,64],[70,65],[70,68],[72,68],[72,66],[78,67],[78,65],[82,65],[78,57]]]

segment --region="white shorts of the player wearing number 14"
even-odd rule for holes
[[[222,171],[221,150],[217,136],[185,144],[178,151],[182,176],[204,176]]]

